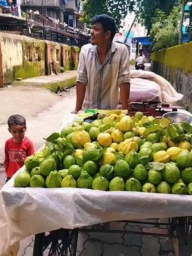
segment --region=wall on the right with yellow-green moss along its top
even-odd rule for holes
[[[184,98],[180,104],[192,112],[192,42],[152,54],[152,71],[170,81]]]

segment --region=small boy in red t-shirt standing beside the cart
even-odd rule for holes
[[[8,131],[13,138],[7,140],[4,147],[6,182],[24,165],[26,157],[34,154],[33,143],[25,137],[26,119],[23,116],[10,116],[8,118]]]

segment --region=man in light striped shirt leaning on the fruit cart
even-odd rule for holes
[[[130,92],[129,52],[124,44],[113,42],[115,20],[106,14],[92,19],[91,43],[83,45],[76,84],[77,113],[83,109],[116,109],[118,88],[122,109],[128,109]]]

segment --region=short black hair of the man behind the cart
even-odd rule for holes
[[[111,42],[112,42],[116,34],[115,19],[113,19],[113,17],[110,17],[107,14],[100,14],[93,17],[92,25],[95,23],[100,23],[102,25],[102,28],[104,29],[104,32],[111,31]]]

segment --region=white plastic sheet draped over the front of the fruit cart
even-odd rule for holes
[[[58,228],[192,215],[192,196],[188,195],[13,188],[12,182],[1,191],[0,255],[15,241]]]

